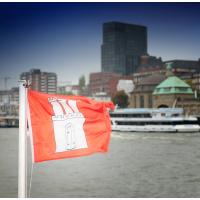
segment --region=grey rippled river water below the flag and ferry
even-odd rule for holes
[[[0,129],[0,197],[17,197],[17,156]],[[200,133],[112,133],[106,154],[35,164],[31,197],[200,197]]]

